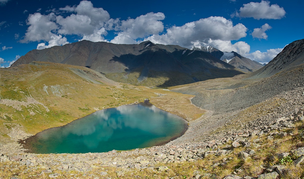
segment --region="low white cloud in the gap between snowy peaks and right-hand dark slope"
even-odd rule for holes
[[[270,62],[273,58],[275,58],[275,56],[278,55],[278,53],[282,52],[282,50],[283,48],[269,49],[267,52],[261,52],[257,50],[244,56],[263,64]]]

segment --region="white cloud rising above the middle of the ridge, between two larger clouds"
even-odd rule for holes
[[[112,43],[131,44],[137,43],[136,39],[144,38],[149,35],[158,34],[164,31],[164,24],[161,20],[165,19],[162,12],[147,13],[140,15],[136,19],[127,19],[121,21],[117,36],[111,40]]]

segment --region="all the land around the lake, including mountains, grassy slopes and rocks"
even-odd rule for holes
[[[0,177],[303,178],[303,61],[304,39],[266,66],[235,52],[150,41],[32,50],[0,69]],[[29,154],[18,142],[145,99],[187,120],[185,134],[88,154]]]

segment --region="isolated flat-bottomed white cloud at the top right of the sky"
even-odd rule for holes
[[[254,19],[282,19],[286,12],[283,7],[277,4],[270,5],[269,1],[250,2],[243,4],[243,7],[239,11],[235,12],[231,16],[244,17]]]

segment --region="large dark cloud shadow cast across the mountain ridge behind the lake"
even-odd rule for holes
[[[207,79],[233,77],[243,74],[234,69],[217,67],[218,64],[225,66],[226,63],[215,59],[205,52],[193,52],[190,50],[185,52],[184,49],[176,48],[169,52],[154,45],[150,49],[142,50],[139,55],[115,56],[111,61],[122,63],[128,67],[125,70],[126,73],[140,73],[137,80],[133,79],[133,81],[138,82],[135,85],[144,85],[144,80],[148,78],[150,83],[154,84],[152,85],[154,87],[183,85]],[[226,66],[231,68],[228,64]]]

